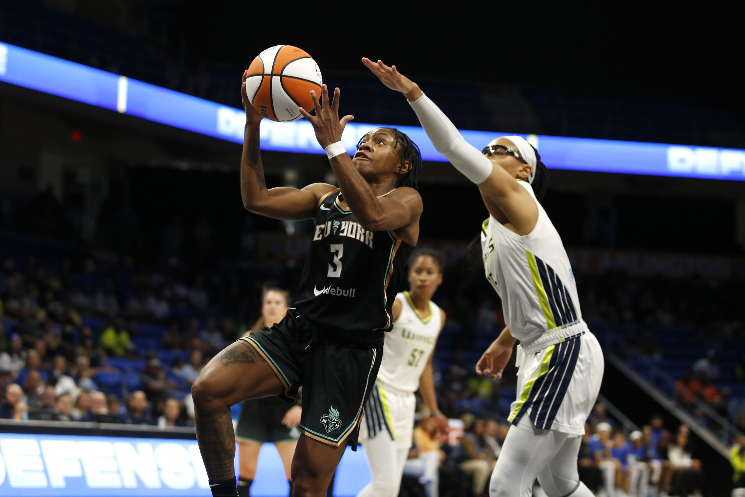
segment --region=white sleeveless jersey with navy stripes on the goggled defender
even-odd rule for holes
[[[536,200],[530,184],[518,183]],[[538,223],[529,235],[510,231],[492,216],[481,229],[486,279],[501,297],[504,323],[524,346],[551,329],[586,329],[559,232],[538,200],[536,205]]]

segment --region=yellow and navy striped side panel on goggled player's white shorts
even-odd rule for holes
[[[546,348],[541,367],[525,383],[515,410],[508,418],[509,422],[517,425],[530,408],[533,425],[544,430],[551,429],[577,365],[582,335],[584,332]]]

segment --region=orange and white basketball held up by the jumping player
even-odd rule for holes
[[[262,51],[248,68],[246,93],[256,109],[272,121],[301,118],[297,108],[313,109],[311,90],[320,94],[323,79],[308,52],[292,45]]]

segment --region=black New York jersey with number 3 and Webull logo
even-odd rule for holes
[[[332,329],[387,332],[413,247],[393,231],[361,227],[340,196],[335,190],[320,200],[296,308]]]

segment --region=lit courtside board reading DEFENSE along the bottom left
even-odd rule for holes
[[[362,447],[347,447],[334,495],[356,496],[371,479]],[[289,490],[279,452],[264,444],[251,494],[286,497]],[[202,497],[209,483],[195,440],[0,433],[0,496]]]

